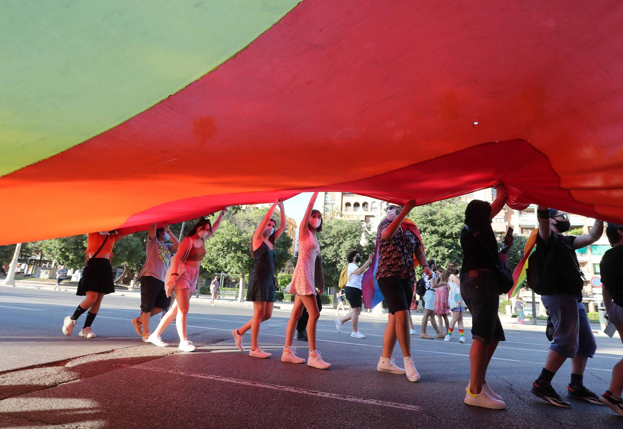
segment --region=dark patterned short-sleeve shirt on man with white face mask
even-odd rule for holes
[[[398,276],[414,282],[416,269],[413,263],[413,253],[417,248],[422,247],[422,243],[416,234],[402,227],[398,228],[391,239],[382,239],[381,233],[389,224],[391,224],[389,219],[383,219],[376,233],[376,242],[379,244],[376,278]]]

